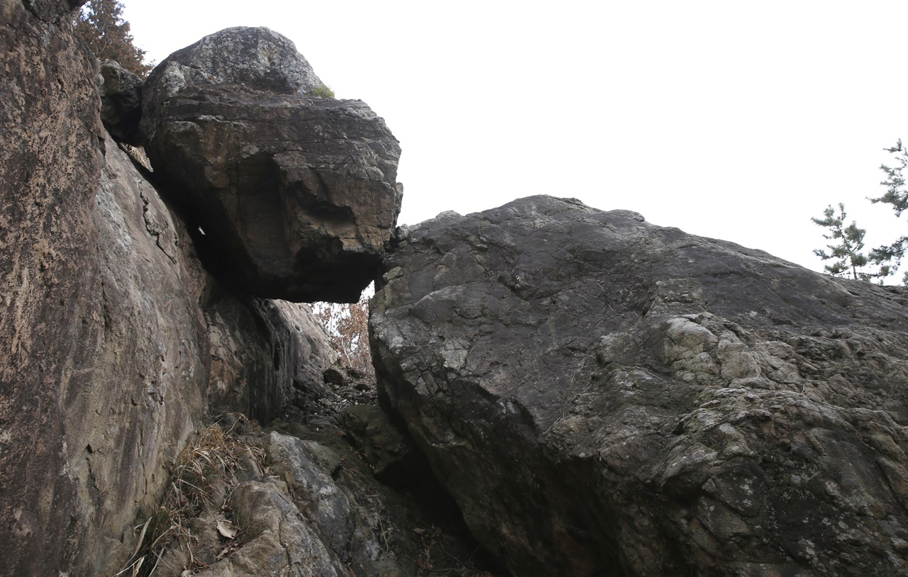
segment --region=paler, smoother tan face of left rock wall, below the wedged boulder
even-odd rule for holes
[[[136,512],[153,510],[166,465],[203,416],[208,380],[202,286],[180,225],[109,138],[104,160],[84,231],[96,239],[83,262],[94,282],[84,317],[70,326],[84,350],[70,359],[62,438],[88,529],[80,554],[103,563],[98,572],[111,568],[104,564]]]

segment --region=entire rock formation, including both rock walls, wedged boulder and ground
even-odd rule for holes
[[[286,38],[142,83],[80,4],[0,0],[0,575],[908,572],[903,289],[550,197],[390,239]],[[272,299],[379,273],[385,411]]]

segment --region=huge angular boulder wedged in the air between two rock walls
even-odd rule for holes
[[[208,266],[260,297],[355,302],[400,211],[400,147],[360,101],[320,81],[266,28],[176,52],[143,87],[156,179],[201,226]]]

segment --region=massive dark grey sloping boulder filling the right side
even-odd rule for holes
[[[384,406],[515,575],[908,573],[908,296],[531,197],[410,231]]]

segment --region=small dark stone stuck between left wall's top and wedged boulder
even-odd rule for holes
[[[98,91],[101,93],[101,121],[116,142],[140,146],[142,83],[137,75],[113,60],[101,61]]]

